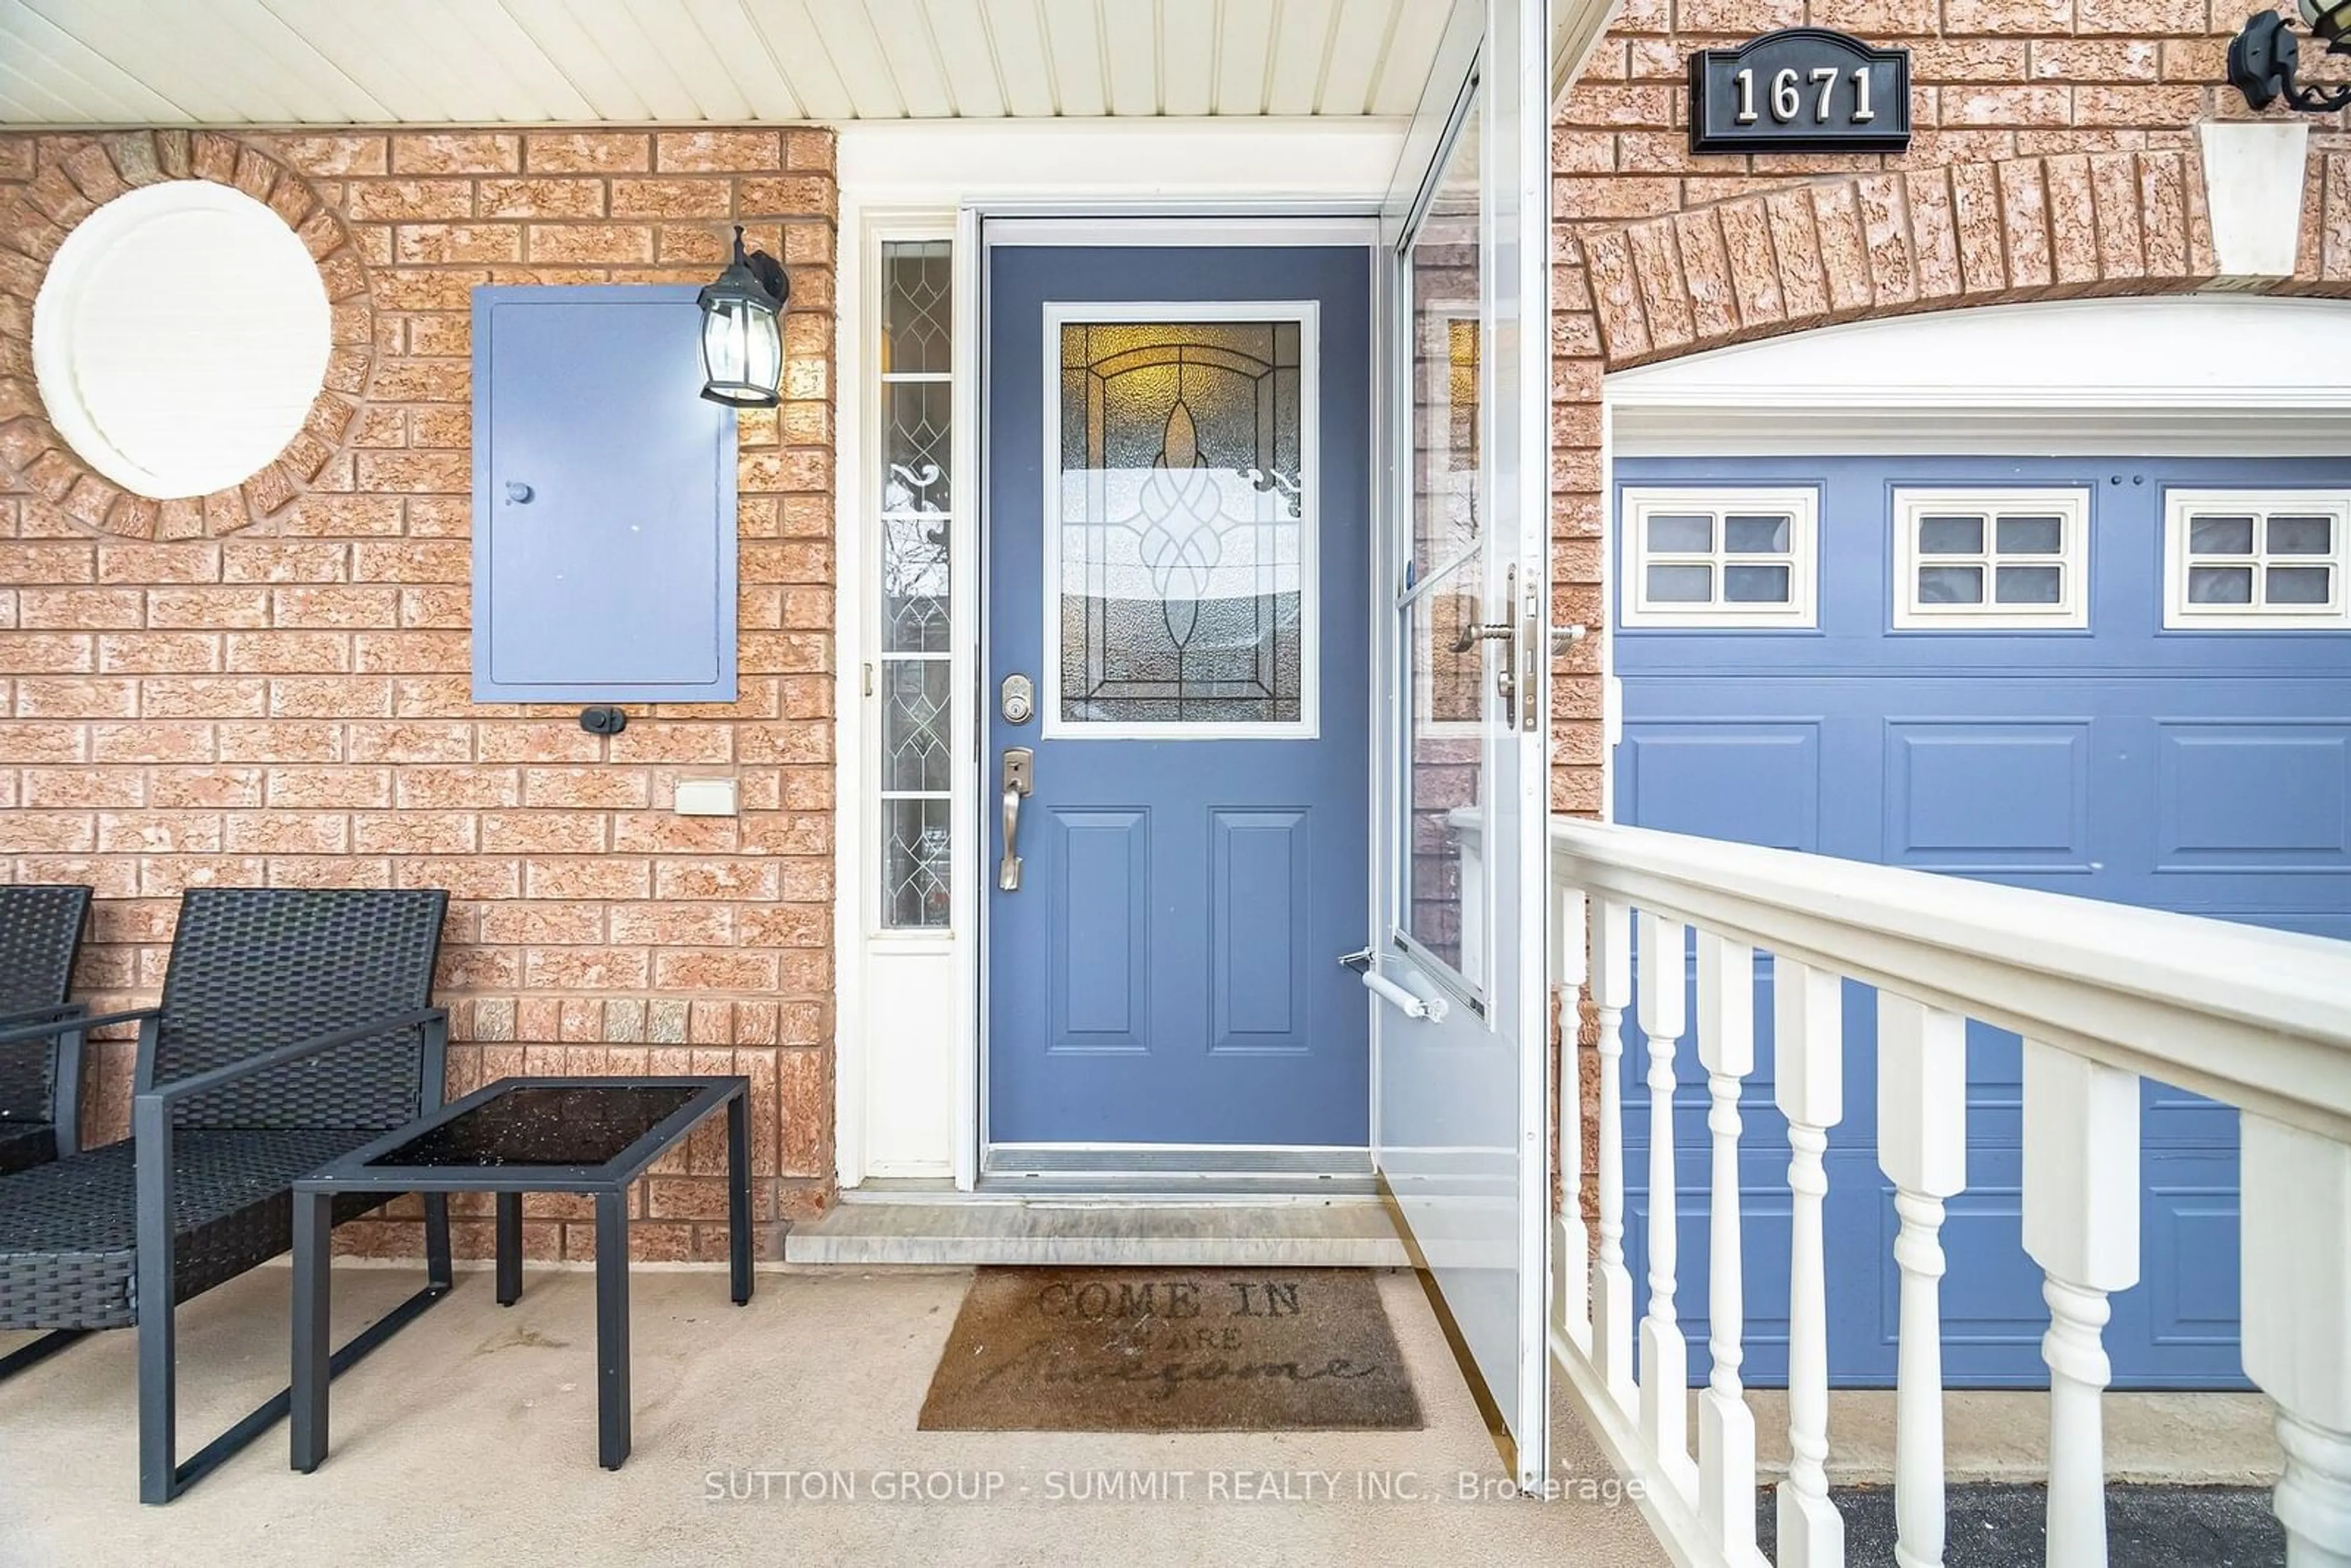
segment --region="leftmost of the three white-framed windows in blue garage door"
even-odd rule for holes
[[[1817,625],[1810,489],[1625,491],[1625,625]]]

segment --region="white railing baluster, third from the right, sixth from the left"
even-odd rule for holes
[[[1878,992],[1878,1168],[1895,1185],[1895,1563],[1940,1568],[1942,1201],[1968,1187],[1968,1020]]]

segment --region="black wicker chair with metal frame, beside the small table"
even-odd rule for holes
[[[277,1394],[176,1458],[172,1309],[292,1246],[292,1182],[442,1103],[428,1006],[440,889],[190,889],[162,1004],[139,1020],[132,1138],[0,1175],[0,1328],[139,1328],[139,1497],[169,1502],[284,1418]],[[0,1030],[0,1044],[56,1025]],[[336,1220],[383,1197],[339,1199]],[[426,1199],[426,1288],[336,1352],[343,1371],[449,1293],[449,1204]]]

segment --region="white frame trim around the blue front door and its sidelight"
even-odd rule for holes
[[[983,451],[978,331],[983,216],[992,226],[1086,216],[1096,235],[1161,240],[1171,219],[1230,242],[1230,223],[1274,235],[1345,235],[1375,244],[1373,214],[1396,179],[1406,125],[1399,120],[1053,120],[1053,122],[889,122],[846,125],[839,134],[839,261],[835,343],[835,1175],[842,1187],[870,1175],[955,1180],[973,1187],[980,1166],[980,877],[987,837],[980,823],[978,564],[976,498]],[[1150,193],[1136,197],[1136,193]],[[1143,223],[1154,219],[1154,223]],[[872,357],[879,331],[879,244],[893,237],[955,240],[955,924],[940,931],[879,931],[875,788],[877,717],[865,693],[875,649],[877,510],[872,454],[879,437]],[[1293,233],[1284,242],[1295,242]],[[1032,242],[1032,240],[1030,240]],[[1093,237],[1091,242],[1114,242]],[[1128,240],[1133,242],[1133,240]],[[1375,275],[1375,308],[1382,299]],[[1373,322],[1380,331],[1380,322]],[[1375,433],[1378,437],[1378,433]],[[1375,475],[1378,482],[1378,475]],[[1378,691],[1371,693],[1378,703]],[[1378,802],[1375,802],[1378,806]],[[877,1060],[879,1016],[898,1001],[875,980],[875,964],[940,966],[955,1016]],[[926,990],[926,987],[924,987]],[[952,1027],[952,1039],[947,1039]],[[903,1030],[896,1030],[903,1034]],[[919,1060],[910,1060],[919,1056]],[[905,1112],[882,1119],[882,1112]],[[877,1133],[884,1133],[877,1138]]]

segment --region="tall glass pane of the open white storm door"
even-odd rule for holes
[[[1469,900],[1481,896],[1486,661],[1493,646],[1462,637],[1486,618],[1476,143],[1472,101],[1406,249],[1413,515],[1399,597],[1413,703],[1404,757],[1404,936],[1469,978],[1472,990],[1483,973],[1479,914]],[[1714,520],[1697,522],[1712,536]]]

